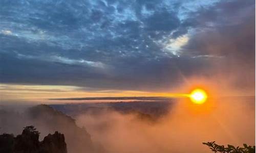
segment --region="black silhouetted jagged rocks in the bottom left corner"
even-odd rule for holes
[[[21,135],[13,137],[10,134],[0,135],[0,152],[5,153],[67,153],[63,134],[49,134],[39,142],[39,132],[34,126],[24,128]]]

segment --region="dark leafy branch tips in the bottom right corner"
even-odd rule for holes
[[[218,145],[213,142],[203,142],[203,144],[207,145],[213,152],[221,152],[221,153],[255,153],[255,146],[248,146],[247,144],[244,144],[244,147],[234,147],[232,145],[227,145],[225,147],[224,145]]]

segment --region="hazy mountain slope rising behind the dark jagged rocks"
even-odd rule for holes
[[[22,113],[0,110],[1,133],[17,133],[18,129],[27,125],[37,127],[42,135],[54,133],[55,131],[62,133],[65,135],[69,153],[103,152],[101,146],[92,142],[90,134],[84,127],[78,127],[72,117],[48,105],[30,107]],[[48,140],[51,140],[51,137],[45,137],[44,144],[50,143]]]

